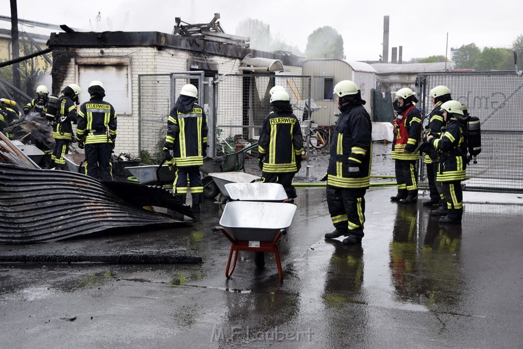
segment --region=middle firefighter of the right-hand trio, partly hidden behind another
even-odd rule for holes
[[[425,128],[425,138],[430,134],[436,138],[439,138],[441,128],[445,126],[445,120],[443,119],[443,111],[441,105],[451,100],[450,90],[447,86],[436,86],[430,90],[430,99],[434,105],[433,110],[427,116],[428,125]],[[445,203],[443,195],[438,190],[436,182],[436,168],[438,163],[430,159],[428,154],[425,154],[425,164],[427,165],[427,178],[430,199],[423,201],[424,206],[442,206]],[[446,207],[446,205],[445,205]]]

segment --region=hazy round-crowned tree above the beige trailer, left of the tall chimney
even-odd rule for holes
[[[343,38],[336,29],[325,26],[314,30],[307,39],[305,55],[308,58],[345,59]]]

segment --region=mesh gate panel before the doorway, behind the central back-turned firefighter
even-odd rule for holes
[[[311,77],[296,75],[222,75],[215,81],[215,135],[217,154],[236,150],[235,144],[257,142],[263,120],[270,111],[269,91],[285,87],[304,134],[309,132],[305,103],[310,101]],[[310,103],[310,102],[309,102]],[[254,151],[254,150],[253,150]],[[308,176],[303,163],[298,177]]]

